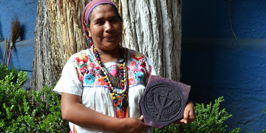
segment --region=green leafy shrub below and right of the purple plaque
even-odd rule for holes
[[[155,133],[165,133],[165,132],[182,132],[182,133],[225,133],[226,125],[223,122],[231,117],[232,115],[226,112],[226,109],[219,111],[220,102],[224,101],[223,97],[215,100],[212,105],[205,105],[196,103],[195,113],[196,120],[190,124],[180,125],[171,124],[162,129],[154,128]],[[241,132],[240,128],[236,128],[232,133]]]

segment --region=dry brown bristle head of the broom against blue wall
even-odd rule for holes
[[[21,27],[20,27],[20,21],[18,20],[17,15],[15,15],[12,18],[11,22],[11,42],[14,44],[17,40],[17,38],[20,36]]]

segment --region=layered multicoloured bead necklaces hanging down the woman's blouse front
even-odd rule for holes
[[[127,103],[127,73],[126,73],[126,59],[125,59],[125,54],[124,54],[124,49],[120,46],[119,47],[119,54],[120,58],[118,59],[120,63],[120,75],[121,75],[121,86],[122,86],[122,91],[117,92],[114,90],[113,86],[119,87],[119,77],[112,77],[110,74],[110,77],[108,77],[107,73],[104,69],[104,64],[100,59],[99,52],[95,48],[94,44],[91,46],[91,53],[93,53],[94,59],[97,62],[96,63],[96,69],[99,70],[99,73],[103,76],[104,81],[106,82],[105,85],[108,86],[108,90],[112,95],[113,99],[113,106],[114,106],[114,113],[115,117],[120,117],[123,115],[123,117],[128,117],[128,103]],[[119,75],[119,74],[118,74]],[[120,109],[120,110],[119,110]],[[120,111],[119,113],[117,111]],[[122,110],[122,114],[121,114]],[[125,114],[124,112],[127,112]]]

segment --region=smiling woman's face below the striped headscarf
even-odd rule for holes
[[[111,5],[98,5],[90,19],[89,37],[96,48],[112,50],[119,46],[122,36],[122,23]]]

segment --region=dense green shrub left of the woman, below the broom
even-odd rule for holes
[[[29,95],[21,87],[26,73],[19,72],[17,81],[12,82],[14,78],[10,73],[0,80],[0,132],[69,132],[68,122],[61,116],[61,96],[53,88],[46,86]],[[40,98],[44,93],[45,101]]]

